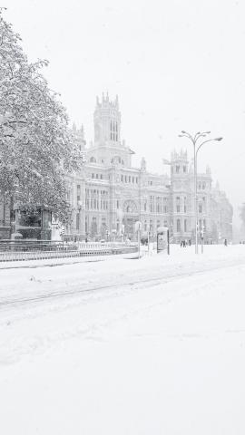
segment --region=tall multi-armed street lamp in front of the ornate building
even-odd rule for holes
[[[190,133],[187,131],[181,131],[181,134],[179,134],[180,138],[188,138],[191,140],[193,147],[194,147],[194,210],[195,210],[195,253],[198,254],[198,198],[197,198],[197,157],[198,157],[198,151],[201,149],[202,145],[207,142],[211,142],[212,140],[222,140],[222,138],[214,138],[214,139],[207,139],[203,140],[201,143],[198,143],[198,141],[201,138],[206,138],[207,134],[210,134],[211,131],[198,131],[194,136],[191,136]]]

